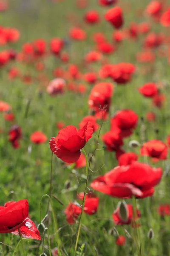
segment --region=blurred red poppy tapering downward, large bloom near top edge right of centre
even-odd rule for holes
[[[123,25],[122,9],[119,6],[109,9],[105,13],[105,19],[108,20],[116,29],[119,29]]]

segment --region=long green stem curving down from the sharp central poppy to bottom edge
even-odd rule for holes
[[[86,190],[87,190],[87,185],[88,185],[88,173],[89,173],[87,154],[85,153],[85,150],[83,148],[82,148],[82,151],[85,154],[86,181],[85,181],[85,192],[84,192],[84,196],[83,196],[83,200],[82,200],[82,211],[81,211],[80,218],[79,218],[79,225],[78,225],[78,231],[77,231],[77,239],[76,239],[76,244],[75,244],[75,248],[74,248],[74,256],[76,256],[77,244],[78,244],[78,241],[79,241],[79,234],[80,234],[80,229],[81,229],[82,214],[83,214],[83,210],[84,210],[84,206],[85,206],[85,195],[86,195]]]

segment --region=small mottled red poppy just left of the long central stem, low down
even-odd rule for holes
[[[80,215],[82,209],[77,206],[76,204],[69,203],[68,206],[65,208],[65,215],[67,222],[71,225],[74,224],[75,220]]]

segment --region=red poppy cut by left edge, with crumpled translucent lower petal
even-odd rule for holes
[[[24,238],[41,240],[40,233],[28,216],[28,201],[11,201],[0,206],[0,233],[12,233]]]

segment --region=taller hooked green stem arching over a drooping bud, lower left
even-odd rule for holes
[[[51,201],[51,198],[49,197],[49,195],[43,195],[41,200],[40,200],[40,223],[42,221],[41,204],[42,204],[42,199],[44,197],[47,197],[50,201],[50,204],[51,204],[51,211],[52,211],[53,221],[54,221],[55,236],[56,236],[56,241],[57,241],[57,245],[58,245],[58,255],[61,256],[61,251],[60,251],[61,240],[60,240],[59,234],[57,232],[57,230],[58,230],[57,220],[55,218],[54,209],[53,209],[53,206],[52,206],[52,201]]]

